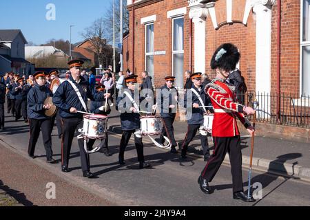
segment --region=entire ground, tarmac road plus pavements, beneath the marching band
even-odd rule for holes
[[[118,164],[121,135],[116,111],[110,115],[109,126],[109,146],[114,155],[90,155],[91,171],[97,178],[87,179],[81,177],[76,138],[72,144],[69,164],[71,172],[61,173],[60,164],[45,163],[41,135],[35,152],[38,157],[28,157],[28,124],[23,121],[15,122],[14,118],[8,115],[6,131],[0,133],[0,164],[1,170],[5,170],[3,175],[1,172],[0,179],[8,188],[17,191],[16,195],[10,192],[9,194],[25,206],[310,206],[309,181],[304,176],[300,179],[298,174],[291,174],[286,168],[288,164],[310,167],[307,165],[307,144],[256,137],[254,157],[258,158],[257,162],[265,160],[266,166],[254,166],[251,183],[261,184],[262,199],[256,203],[243,203],[232,199],[231,173],[227,160],[210,183],[215,192],[205,195],[200,191],[197,179],[205,162],[198,137],[192,142],[192,153],[185,161],[179,159],[179,154],[171,154],[169,149],[157,148],[150,144],[148,137],[143,137],[145,160],[152,164],[152,168],[140,170],[132,140],[126,148],[125,166]],[[175,122],[174,127],[176,140],[181,142],[185,137],[187,124]],[[56,134],[56,126],[52,135],[54,158],[60,162],[61,144]],[[249,141],[250,138],[243,134],[242,176],[245,191]],[[212,148],[211,143],[209,137],[209,146]],[[273,164],[282,164],[282,170]],[[46,199],[46,184],[49,182],[56,185],[56,199]],[[21,195],[21,199],[17,195]]]

